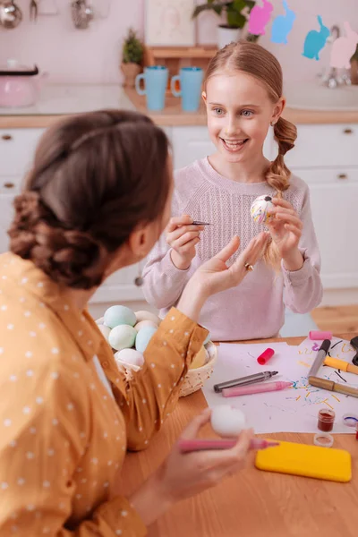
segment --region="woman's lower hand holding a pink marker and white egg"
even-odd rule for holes
[[[196,416],[180,439],[195,439],[203,425],[209,422],[210,409]],[[243,468],[253,437],[243,430],[231,449],[181,453],[175,444],[166,461],[131,498],[132,506],[144,524],[151,524],[169,507],[181,499],[190,498],[202,490],[214,487],[223,479]]]

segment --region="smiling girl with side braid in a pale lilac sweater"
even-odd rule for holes
[[[282,117],[282,86],[281,67],[265,48],[244,41],[217,52],[203,92],[217,150],[176,172],[173,217],[144,269],[145,297],[164,315],[193,271],[233,234],[244,248],[264,230],[251,218],[251,203],[261,195],[274,197],[263,259],[241,286],[212,297],[201,311],[200,323],[214,340],[276,336],[285,305],[305,313],[321,300],[309,190],[284,162],[296,128]],[[263,155],[270,125],[278,145],[273,162]],[[194,220],[210,226],[193,226]],[[247,268],[252,268],[250,259]]]

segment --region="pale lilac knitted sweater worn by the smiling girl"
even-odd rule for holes
[[[303,268],[289,272],[282,265],[277,276],[260,260],[239,286],[212,296],[201,312],[200,324],[209,329],[214,340],[276,336],[284,324],[285,305],[306,313],[320,303],[320,252],[311,219],[310,194],[298,177],[292,175],[290,183],[284,197],[303,221]],[[240,252],[264,229],[251,219],[251,203],[257,196],[274,193],[266,182],[248,184],[226,179],[210,166],[208,158],[175,173],[173,216],[189,214],[212,226],[202,232],[196,257],[187,270],[175,268],[165,234],[151,251],[143,271],[143,290],[146,300],[161,310],[161,316],[177,303],[194,270],[217,254],[234,234],[241,238]]]

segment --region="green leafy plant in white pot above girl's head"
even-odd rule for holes
[[[253,0],[233,0],[233,2],[207,0],[206,4],[196,6],[192,17],[195,18],[205,11],[213,11],[219,16],[222,13],[226,14],[226,23],[219,24],[217,27],[217,47],[222,48],[241,38],[242,30],[254,5]],[[249,35],[248,38],[251,41],[256,41],[258,36]]]

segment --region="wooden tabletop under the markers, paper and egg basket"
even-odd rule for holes
[[[353,334],[339,337],[350,340]],[[299,345],[303,337],[260,340]],[[258,343],[258,342],[255,342]],[[352,397],[358,412],[358,402]],[[201,390],[179,400],[175,412],[146,451],[128,454],[124,463],[126,494],[160,464],[183,427],[207,406]],[[205,431],[204,431],[205,432]],[[212,434],[207,436],[213,436]],[[281,433],[265,437],[312,443],[312,434]],[[358,442],[355,435],[336,435],[335,447],[352,454],[350,483],[313,480],[260,472],[253,465],[215,489],[184,500],[149,528],[150,537],[357,537]]]

